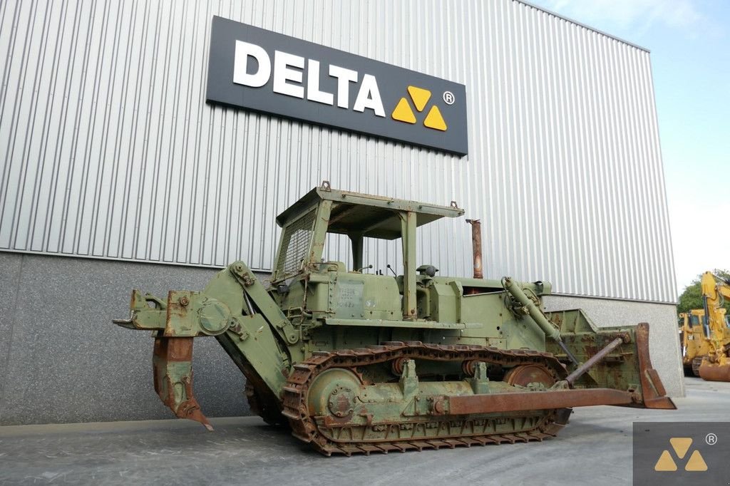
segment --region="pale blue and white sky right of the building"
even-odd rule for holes
[[[730,1],[529,1],[651,51],[677,294],[730,269]]]

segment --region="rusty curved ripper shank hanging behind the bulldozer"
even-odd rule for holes
[[[156,337],[153,355],[155,391],[177,417],[195,420],[212,431],[193,396],[193,338]]]

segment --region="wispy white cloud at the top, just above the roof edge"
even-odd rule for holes
[[[646,31],[659,23],[694,36],[707,23],[693,0],[535,0],[541,7],[591,26]]]

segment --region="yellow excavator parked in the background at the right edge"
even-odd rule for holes
[[[730,301],[730,279],[706,271],[701,285],[702,309],[680,315],[683,362],[702,379],[730,382],[730,322],[723,308]]]

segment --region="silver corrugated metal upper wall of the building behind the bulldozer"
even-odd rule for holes
[[[464,83],[469,156],[207,106],[212,15]],[[328,179],[455,199],[488,277],[675,301],[649,54],[529,5],[5,0],[0,59],[0,249],[270,269],[274,215]],[[421,232],[470,274],[463,220]]]

